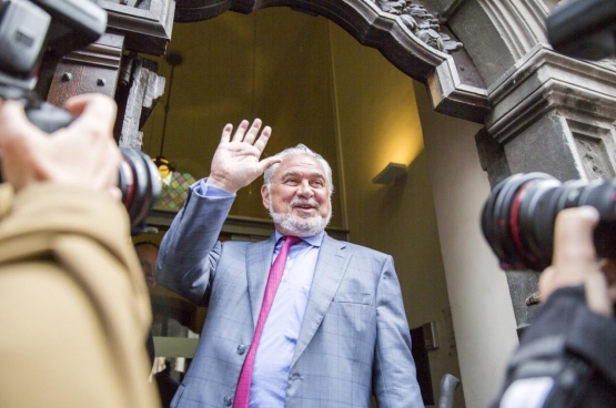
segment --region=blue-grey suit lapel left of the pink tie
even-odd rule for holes
[[[267,275],[272,265],[275,237],[249,245],[246,248],[246,279],[249,285],[249,298],[252,313],[252,325],[256,327],[263,294],[267,284]]]

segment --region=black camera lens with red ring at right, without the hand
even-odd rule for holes
[[[556,215],[582,205],[599,212],[597,255],[616,259],[616,181],[562,183],[545,173],[512,175],[486,201],[482,231],[503,269],[541,272],[552,264]]]

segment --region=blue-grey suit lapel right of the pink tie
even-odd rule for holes
[[[323,238],[291,367],[314,337],[344,277],[351,258],[351,254],[344,251],[346,243],[333,239],[329,235]]]

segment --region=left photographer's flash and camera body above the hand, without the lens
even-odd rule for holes
[[[60,58],[97,41],[107,12],[88,0],[0,0],[0,96],[19,100],[32,123],[52,133],[72,116],[32,91],[46,52]]]

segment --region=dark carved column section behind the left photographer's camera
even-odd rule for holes
[[[99,41],[43,68],[41,89],[47,101],[62,106],[88,92],[115,99],[114,136],[121,147],[141,149],[148,114],[164,91],[158,64],[137,53],[163,55],[171,40],[174,0],[93,0],[108,12],[107,32]],[[132,51],[125,54],[125,51]],[[44,90],[49,84],[48,92]]]

